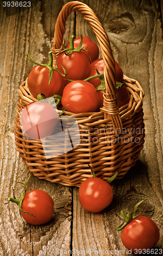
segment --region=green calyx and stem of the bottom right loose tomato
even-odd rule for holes
[[[126,210],[121,210],[121,215],[122,215],[122,217],[123,217],[123,219],[124,219],[124,222],[123,222],[121,225],[119,225],[119,226],[117,227],[117,230],[118,230],[118,231],[122,230],[128,223],[131,222],[131,220],[133,220],[134,218],[136,218],[136,217],[138,217],[138,216],[140,216],[140,215],[142,214],[144,208],[143,208],[142,212],[141,212],[140,214],[138,214],[138,215],[136,215],[136,210],[137,210],[137,207],[138,207],[141,203],[143,203],[145,200],[147,200],[147,199],[144,199],[144,200],[140,201],[138,204],[136,204],[136,205],[134,206],[133,212],[132,212],[132,211],[131,211],[131,212],[128,212],[127,216],[125,215],[125,211],[126,211],[127,209],[126,209]],[[126,223],[125,223],[125,222],[126,222]],[[124,223],[125,223],[125,224],[124,224]],[[124,225],[123,225],[123,224],[124,224]]]

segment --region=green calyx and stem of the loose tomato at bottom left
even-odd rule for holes
[[[16,203],[16,204],[19,206],[19,212],[21,211],[21,212],[23,212],[24,214],[28,214],[28,215],[31,215],[31,216],[37,218],[36,216],[30,214],[29,212],[23,211],[23,210],[21,209],[21,204],[22,204],[22,201],[23,201],[23,199],[24,199],[24,196],[25,196],[25,193],[26,193],[26,189],[27,189],[26,183],[29,181],[30,177],[31,177],[31,175],[28,177],[28,179],[25,181],[25,183],[18,182],[18,183],[23,184],[23,186],[19,186],[19,187],[17,187],[17,188],[20,188],[20,187],[23,187],[23,188],[24,188],[24,189],[23,189],[23,193],[21,194],[20,199],[16,199],[16,198],[15,198],[14,191],[13,191],[13,196],[14,196],[14,198],[9,197],[9,198],[8,198],[8,201],[11,201],[11,202],[13,202],[13,203]],[[16,188],[16,189],[17,189],[17,188]],[[20,216],[21,216],[21,214],[20,214]]]

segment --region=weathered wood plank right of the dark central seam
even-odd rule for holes
[[[157,1],[82,1],[100,19],[111,41],[114,58],[127,76],[137,79],[144,91],[145,145],[140,160],[122,180],[113,182],[114,201],[100,214],[90,214],[78,201],[73,189],[73,248],[86,251],[107,250],[113,255],[127,251],[116,227],[122,223],[120,210],[132,211],[143,203],[144,215],[160,228],[157,248],[162,248],[162,23]],[[96,38],[87,22],[76,13],[76,37],[81,33]],[[143,209],[140,206],[139,209]],[[117,251],[116,251],[117,250]],[[107,251],[105,254],[107,255]],[[102,254],[102,255],[105,255]],[[112,253],[111,253],[112,254]],[[89,255],[86,254],[86,255]],[[133,255],[133,254],[132,254]]]

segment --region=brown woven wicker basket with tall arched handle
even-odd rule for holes
[[[115,65],[109,39],[95,13],[86,4],[69,2],[61,10],[55,29],[52,47],[53,61],[61,52],[65,23],[68,15],[78,11],[90,23],[100,45],[104,60],[105,91],[100,112],[65,116],[77,119],[80,143],[73,150],[57,157],[46,159],[40,140],[28,140],[22,136],[19,113],[32,101],[37,101],[28,89],[26,81],[20,84],[16,111],[16,150],[23,162],[39,179],[67,186],[79,186],[92,176],[88,164],[97,177],[109,179],[118,172],[123,178],[139,158],[144,144],[143,97],[144,92],[137,80],[124,75],[124,83],[130,94],[129,103],[120,109],[117,105]],[[59,111],[60,112],[60,111]]]

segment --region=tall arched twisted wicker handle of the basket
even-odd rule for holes
[[[57,18],[55,36],[52,46],[53,60],[55,60],[58,54],[63,49],[63,36],[66,31],[66,20],[71,12],[78,11],[84,15],[84,18],[91,25],[96,38],[99,42],[99,46],[102,53],[102,58],[104,61],[104,79],[105,79],[105,91],[103,93],[103,108],[104,118],[112,118],[112,124],[115,129],[115,134],[118,135],[122,131],[122,121],[119,116],[119,108],[117,105],[116,96],[116,72],[115,72],[115,61],[112,55],[112,49],[110,46],[110,41],[108,36],[101,25],[99,19],[93,12],[93,10],[84,3],[78,1],[72,1],[67,3],[59,13]]]

